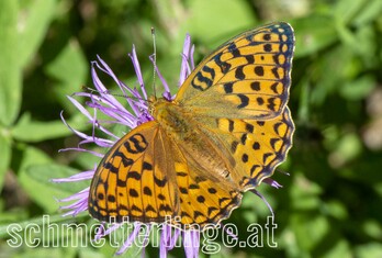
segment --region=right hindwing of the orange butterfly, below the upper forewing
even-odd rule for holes
[[[201,119],[199,127],[221,147],[234,167],[231,180],[241,191],[254,189],[272,176],[292,146],[294,124],[288,106],[274,119]]]

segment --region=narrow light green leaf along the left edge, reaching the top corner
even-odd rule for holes
[[[0,123],[7,126],[18,116],[21,104],[18,3],[13,0],[0,2]]]

